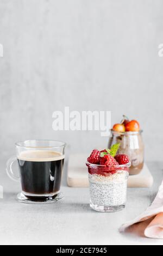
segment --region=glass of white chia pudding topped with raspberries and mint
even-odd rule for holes
[[[90,207],[96,211],[113,212],[126,205],[129,157],[116,155],[119,144],[110,149],[94,149],[86,166],[89,172]]]

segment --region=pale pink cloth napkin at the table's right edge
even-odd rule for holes
[[[151,206],[133,221],[124,223],[119,230],[163,239],[163,181]]]

